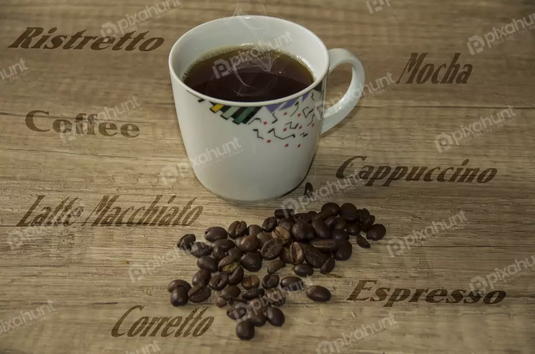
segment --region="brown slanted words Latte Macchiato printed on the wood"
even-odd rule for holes
[[[68,204],[67,202],[70,197],[67,197],[55,208],[53,206],[44,206],[41,209],[41,213],[35,215],[34,211],[37,208],[37,205],[39,205],[44,199],[44,197],[44,195],[37,196],[36,201],[26,212],[24,217],[22,217],[22,219],[18,222],[17,226],[57,226],[60,224],[63,224],[64,226],[70,226],[74,223],[74,220],[71,221],[71,218],[80,217],[84,211],[83,206],[76,206],[73,208],[73,204],[75,203],[75,201],[77,201],[78,197],[72,199]],[[103,196],[100,203],[98,203],[98,205],[95,207],[95,209],[93,209],[91,214],[89,214],[87,219],[83,222],[82,226],[86,225],[86,223],[93,216],[93,214],[95,215],[95,219],[90,224],[91,226],[189,226],[192,225],[193,222],[195,222],[195,220],[197,220],[197,218],[201,216],[201,213],[203,211],[202,206],[196,206],[187,214],[186,217],[184,217],[184,219],[182,219],[182,217],[184,216],[186,211],[189,210],[189,207],[193,204],[196,198],[190,200],[188,204],[186,204],[184,209],[182,209],[182,212],[179,214],[178,206],[157,206],[159,200],[163,197],[162,195],[156,196],[154,201],[150,204],[148,209],[142,215],[140,213],[141,211],[145,210],[144,206],[136,210],[134,210],[134,206],[122,208],[120,206],[114,206],[110,210],[110,208],[113,206],[113,204],[117,201],[119,197],[119,195]],[[167,201],[167,204],[170,204],[176,197],[176,195],[171,196],[169,201]],[[166,211],[167,213],[165,214]],[[126,214],[128,214],[129,212],[131,212],[131,214],[126,220]],[[137,217],[137,214],[140,214],[141,216]]]

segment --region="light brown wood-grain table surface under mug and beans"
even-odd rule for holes
[[[117,24],[155,4],[162,3],[0,4],[0,68],[4,76],[16,73],[0,76],[0,353],[535,352],[535,25],[522,29],[518,24],[522,19],[533,24],[533,3],[181,0],[160,18],[138,24],[136,33],[148,30],[148,38],[164,39],[152,51],[8,48],[28,27],[43,28],[42,35],[57,28],[52,35],[86,30],[85,35],[102,36],[106,23]],[[201,238],[205,228],[227,227],[234,220],[261,224],[286,198],[303,194],[304,184],[284,200],[233,205],[204,189],[181,165],[187,158],[169,51],[188,29],[238,10],[308,27],[327,48],[358,55],[366,84],[387,82],[382,90],[366,88],[350,116],[320,138],[305,179],[316,190],[338,181],[339,167],[357,156],[346,176],[364,165],[372,166],[365,169],[373,168],[376,178],[401,173],[402,166],[408,172],[439,167],[430,181],[423,174],[415,181],[400,176],[385,186],[385,175],[329,196],[369,209],[387,227],[386,237],[368,250],[352,238],[350,260],[339,262],[330,276],[316,272],[311,278],[331,289],[331,302],[312,303],[297,293],[282,307],[284,326],[259,328],[249,342],[235,336],[235,324],[213,297],[173,307],[166,291],[170,280],[190,280],[197,269],[193,256],[176,252],[181,235]],[[478,47],[472,36],[489,42]],[[418,76],[408,83],[407,73],[398,82],[412,53],[427,53],[422,68],[433,64],[435,70],[460,53],[461,70],[465,65],[472,70],[466,83],[423,82],[425,74],[422,83]],[[331,74],[327,99],[346,90],[349,73],[342,66]],[[392,80],[380,80],[385,77]],[[57,119],[74,122],[80,113],[125,102],[131,109],[115,122],[139,127],[136,137],[53,130]],[[28,127],[31,111],[49,112],[34,119],[35,130],[48,131]],[[496,113],[502,111],[499,125]],[[496,124],[487,123],[475,135],[491,116]],[[445,145],[436,142],[440,137]],[[165,168],[177,165],[177,178],[163,178]],[[454,168],[479,172],[464,182],[438,181],[439,171],[449,167],[446,180]],[[167,205],[175,196],[169,205],[180,211],[187,207],[190,218],[170,226],[103,225],[95,209],[115,196],[113,206],[123,210],[148,207],[158,196],[159,205]],[[79,206],[78,217],[59,216],[68,225],[39,221],[45,207],[53,213],[62,201],[65,206],[74,199],[71,209]],[[318,199],[303,207],[319,210],[323,203]],[[201,211],[200,216],[191,210]],[[454,216],[455,228],[433,228]],[[425,239],[415,242],[422,235]],[[290,273],[290,267],[281,271]],[[358,284],[365,289],[354,293]],[[473,304],[471,284],[482,294]],[[419,297],[418,289],[424,289]],[[457,301],[457,295],[463,298]],[[136,305],[144,307],[132,309]],[[188,336],[162,336],[162,329],[155,336],[126,334],[143,316],[185,319],[196,308],[209,318],[197,324],[211,322],[201,335],[202,326]],[[129,309],[118,330],[123,335],[114,337],[113,327]]]

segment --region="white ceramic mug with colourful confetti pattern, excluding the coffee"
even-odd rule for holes
[[[314,83],[292,96],[255,103],[208,97],[184,83],[184,75],[201,58],[246,44],[298,58]],[[327,74],[343,63],[353,66],[351,84],[342,99],[324,111]],[[229,65],[216,61],[216,77],[225,75]],[[266,16],[221,18],[189,30],[173,45],[169,69],[180,132],[195,176],[213,194],[239,204],[271,201],[299,186],[319,135],[349,114],[364,85],[364,68],[353,53],[327,50],[309,29]]]

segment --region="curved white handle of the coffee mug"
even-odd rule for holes
[[[362,89],[364,87],[364,67],[357,56],[347,49],[335,48],[330,49],[329,53],[329,73],[340,64],[349,63],[353,66],[353,76],[351,76],[351,83],[346,94],[332,107],[325,110],[323,114],[322,131],[325,133],[331,129],[342,119],[346,118],[351,110],[354,109],[358,99],[362,96]]]

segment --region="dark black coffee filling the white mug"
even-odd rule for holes
[[[189,68],[184,83],[195,91],[234,102],[263,102],[309,87],[314,76],[301,60],[254,45],[205,55]]]

